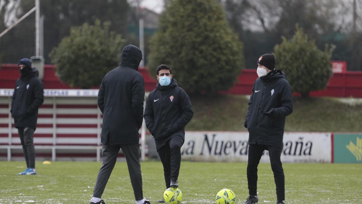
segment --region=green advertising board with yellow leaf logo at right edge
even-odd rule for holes
[[[362,134],[334,134],[334,163],[362,163]]]

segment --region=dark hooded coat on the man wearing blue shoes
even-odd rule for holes
[[[15,83],[10,112],[16,128],[37,127],[38,109],[44,102],[43,82],[38,77],[37,68],[31,68],[27,76],[18,78]]]

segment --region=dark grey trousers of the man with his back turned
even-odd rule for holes
[[[142,174],[139,159],[139,144],[119,144],[102,146],[102,166],[98,172],[93,197],[101,198],[108,179],[112,173],[119,149],[122,149],[126,157],[128,172],[130,174],[133,193],[136,200],[143,199]]]

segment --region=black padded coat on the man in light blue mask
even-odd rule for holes
[[[155,138],[157,149],[172,136],[185,137],[185,126],[194,112],[186,92],[172,79],[170,85],[152,90],[147,97],[144,120],[148,130]]]

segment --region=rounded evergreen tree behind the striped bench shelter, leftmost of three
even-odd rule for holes
[[[50,53],[60,81],[71,87],[99,86],[104,75],[118,66],[123,48],[121,35],[110,31],[110,23],[83,24],[70,29]]]

